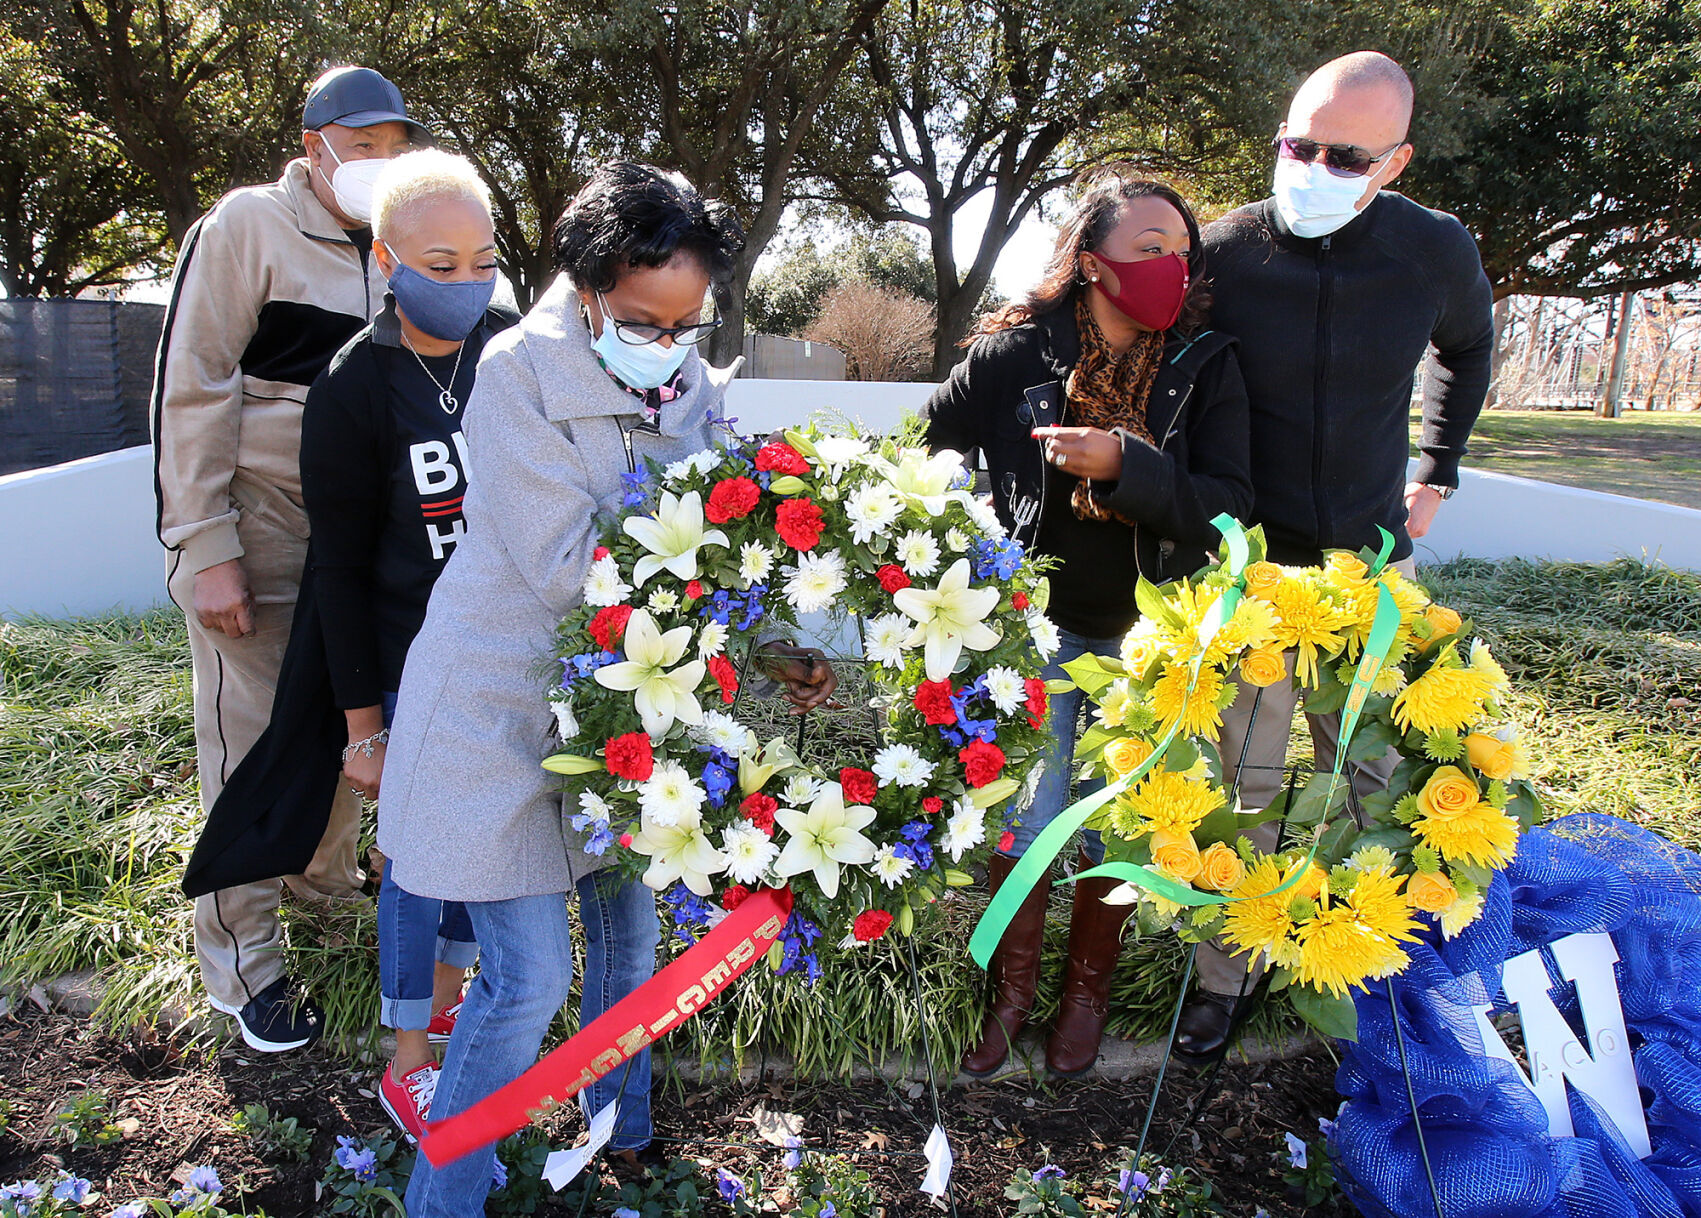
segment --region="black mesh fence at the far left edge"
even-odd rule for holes
[[[0,475],[148,442],[163,304],[0,299]]]

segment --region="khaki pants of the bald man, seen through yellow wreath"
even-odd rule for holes
[[[1415,573],[1415,563],[1410,558],[1400,560],[1395,566],[1407,578]],[[1288,653],[1288,672],[1293,672],[1293,652]],[[1235,686],[1240,689],[1235,704],[1223,711],[1220,742],[1223,784],[1233,789],[1238,783],[1240,806],[1247,811],[1262,811],[1283,791],[1288,738],[1293,733],[1293,713],[1300,704],[1300,691],[1291,680],[1277,680],[1274,686],[1257,689],[1237,677]],[[1254,708],[1257,708],[1255,713]],[[1327,774],[1335,764],[1335,747],[1340,742],[1340,714],[1306,714],[1305,718],[1311,728],[1317,769]],[[1242,750],[1245,752],[1243,764]],[[1359,800],[1385,791],[1398,764],[1400,752],[1397,748],[1390,748],[1373,762],[1347,762],[1352,791]],[[1242,837],[1259,851],[1274,851],[1277,830],[1279,822],[1267,820],[1247,828]],[[1221,937],[1203,942],[1194,958],[1199,988],[1211,993],[1250,992],[1264,975],[1264,961],[1252,963],[1250,970],[1247,965],[1247,953],[1235,954],[1233,948]]]

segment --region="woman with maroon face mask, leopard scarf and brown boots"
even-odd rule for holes
[[[1252,507],[1247,393],[1235,344],[1206,325],[1199,225],[1169,185],[1112,167],[1094,177],[1027,296],[981,318],[968,359],[924,412],[934,449],[978,449],[998,519],[1026,549],[1056,560],[1046,616],[1060,650],[1044,675],[1084,653],[1118,655],[1140,609],[1140,578],[1191,575],[1218,539],[1211,519]],[[922,573],[922,572],[917,572]],[[993,891],[1070,801],[1082,694],[1053,696],[1039,786],[992,857]],[[1087,794],[1097,783],[1082,783]],[[1084,834],[1080,866],[1104,857]],[[1129,907],[1116,881],[1075,885],[1063,1002],[1046,1041],[1053,1073],[1099,1056],[1111,973]],[[997,1072],[1033,1010],[1050,876],[1034,885],[988,966],[992,1005],[963,1058]]]

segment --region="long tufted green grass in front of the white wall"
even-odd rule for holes
[[[1607,811],[1701,849],[1701,577],[1621,560],[1487,563],[1420,572],[1475,618],[1507,672],[1550,815]],[[852,728],[842,725],[840,731]],[[832,735],[832,733],[828,733]],[[194,1009],[189,902],[177,890],[199,822],[187,643],[175,611],[0,624],[0,971],[29,983],[104,978],[112,1026]],[[1067,895],[1053,896],[1041,1017],[1055,1002]],[[953,893],[919,922],[925,1026],[939,1063],[978,1027],[981,973],[966,958],[981,908]],[[294,968],[356,1050],[378,1007],[369,912],[284,905]],[[922,1043],[900,941],[823,953],[811,990],[755,970],[665,1051],[708,1067],[764,1053],[805,1075],[908,1056]],[[1112,1029],[1157,1036],[1180,971],[1172,939],[1124,951]],[[1286,1027],[1272,1007],[1266,1034]],[[563,1024],[561,1031],[566,1031]]]

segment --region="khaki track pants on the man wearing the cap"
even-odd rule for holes
[[[167,587],[189,619],[202,811],[218,800],[225,781],[270,720],[306,560],[306,541],[264,521],[245,515],[240,534],[247,549],[242,565],[255,599],[252,638],[230,638],[202,628],[194,614],[196,577],[182,568],[180,555],[167,555]],[[304,874],[286,876],[284,883],[310,898],[357,893],[364,881],[356,864],[359,834],[361,801],[338,783],[330,823],[313,862]],[[264,879],[196,898],[201,980],[219,1002],[242,1007],[284,975],[284,931],[277,920],[281,896],[282,883]]]

